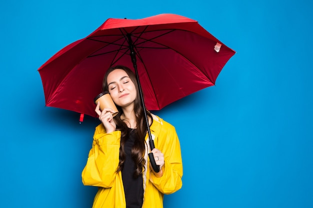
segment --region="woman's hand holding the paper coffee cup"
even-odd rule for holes
[[[96,114],[98,114],[99,120],[102,122],[106,133],[111,133],[115,131],[116,124],[112,116],[112,113],[114,113],[112,109],[104,108],[102,111],[100,111],[100,103],[98,102],[94,111],[96,112]]]

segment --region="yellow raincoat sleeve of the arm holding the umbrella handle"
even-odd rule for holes
[[[163,194],[171,194],[182,186],[182,160],[178,136],[173,126],[163,121],[155,148],[164,154],[163,175],[157,178],[152,172],[149,180]]]

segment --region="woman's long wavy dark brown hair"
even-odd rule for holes
[[[124,70],[127,75],[129,76],[130,80],[133,82],[135,89],[136,89],[136,98],[134,100],[134,113],[136,118],[136,139],[134,142],[134,145],[131,149],[131,158],[135,163],[136,170],[134,172],[134,176],[138,177],[143,170],[145,159],[144,159],[144,151],[145,151],[145,135],[147,132],[147,125],[144,118],[144,112],[141,105],[140,95],[139,95],[139,89],[138,89],[138,83],[136,79],[136,75],[126,66],[117,65],[114,67],[110,67],[103,78],[103,85],[102,90],[108,91],[107,87],[107,76],[110,72],[114,71],[115,69],[121,69]],[[120,148],[119,148],[119,164],[117,171],[121,171],[124,166],[125,162],[125,151],[124,151],[124,145],[125,141],[129,136],[130,129],[125,124],[125,121],[120,118],[120,115],[122,114],[122,109],[119,106],[116,106],[118,109],[118,114],[114,117],[114,121],[116,123],[116,130],[121,131],[121,138],[120,138]],[[148,116],[149,121],[153,121],[152,116],[150,112],[146,111],[146,114]]]

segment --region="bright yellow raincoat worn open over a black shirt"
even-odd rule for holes
[[[181,188],[182,162],[180,145],[172,125],[152,115],[151,136],[156,149],[164,154],[163,176],[157,178],[150,172],[146,145],[143,178],[142,208],[162,208],[164,194],[171,194]],[[148,136],[145,137],[148,140]],[[95,128],[92,149],[81,177],[85,186],[96,186],[98,192],[93,208],[125,208],[125,196],[121,172],[116,172],[119,163],[120,131],[106,134],[102,124]]]

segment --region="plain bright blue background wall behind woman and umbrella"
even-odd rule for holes
[[[88,208],[98,121],[44,106],[37,69],[107,18],[175,13],[236,54],[216,85],[154,112],[176,127],[183,187],[164,207],[312,208],[312,2],[20,0],[0,6],[0,207]],[[18,99],[17,99],[18,97]]]

